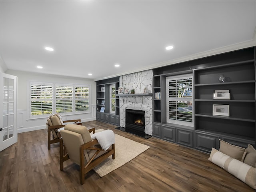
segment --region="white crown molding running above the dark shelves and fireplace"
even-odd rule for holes
[[[169,61],[165,61],[165,62],[152,64],[152,65],[146,66],[144,68],[139,68],[139,69],[136,69],[136,70],[132,70],[132,71],[128,71],[128,72],[124,72],[124,73],[120,73],[120,74],[114,74],[112,76],[107,76],[107,77],[104,77],[104,78],[94,79],[94,81],[104,80],[104,79],[113,78],[113,77],[117,77],[117,76],[122,76],[122,75],[126,75],[126,74],[132,74],[132,73],[136,73],[136,72],[140,72],[140,71],[150,70],[150,69],[154,69],[154,68],[159,68],[159,67],[163,67],[163,66],[173,65],[173,64],[177,64],[177,63],[181,63],[181,62],[186,62],[186,61],[190,61],[190,60],[195,60],[195,59],[199,59],[199,58],[204,58],[204,57],[208,57],[208,56],[222,54],[222,53],[225,53],[225,52],[230,52],[230,51],[235,51],[235,50],[239,50],[239,49],[253,47],[253,46],[256,45],[255,30],[254,30],[254,35],[253,36],[254,36],[253,39],[249,40],[249,41],[240,42],[240,43],[237,43],[237,44],[232,44],[232,45],[229,45],[229,46],[224,46],[224,47],[220,47],[220,48],[200,52],[200,53],[197,53],[197,54],[192,54],[192,55],[189,55],[189,56],[184,56],[184,57],[177,58],[177,59],[174,59],[174,60],[169,60]]]

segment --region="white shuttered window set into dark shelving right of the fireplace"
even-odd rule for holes
[[[166,121],[193,126],[192,74],[166,77]]]

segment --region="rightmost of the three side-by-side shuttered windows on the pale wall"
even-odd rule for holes
[[[89,87],[76,86],[75,88],[75,111],[89,110]]]

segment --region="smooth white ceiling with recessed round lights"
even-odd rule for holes
[[[255,45],[255,17],[255,1],[244,0],[1,0],[0,55],[10,70],[99,80]]]

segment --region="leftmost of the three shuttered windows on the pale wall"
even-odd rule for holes
[[[30,114],[52,114],[53,111],[52,84],[30,84]]]

